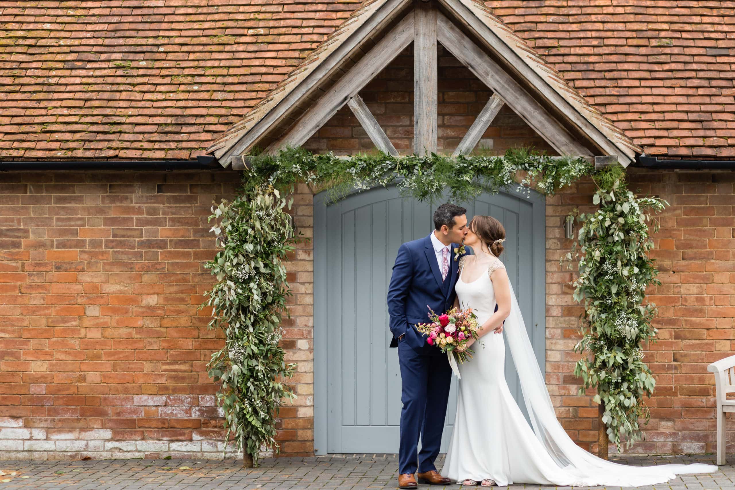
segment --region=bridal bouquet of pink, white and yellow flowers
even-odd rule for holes
[[[462,310],[455,307],[445,314],[436,314],[429,308],[429,319],[431,323],[416,325],[418,331],[428,335],[427,344],[439,347],[442,353],[450,356],[450,361],[451,358],[455,358],[462,364],[467,359],[472,359],[472,350],[457,352],[457,349],[466,345],[470,339],[479,339],[477,316],[471,308]]]

